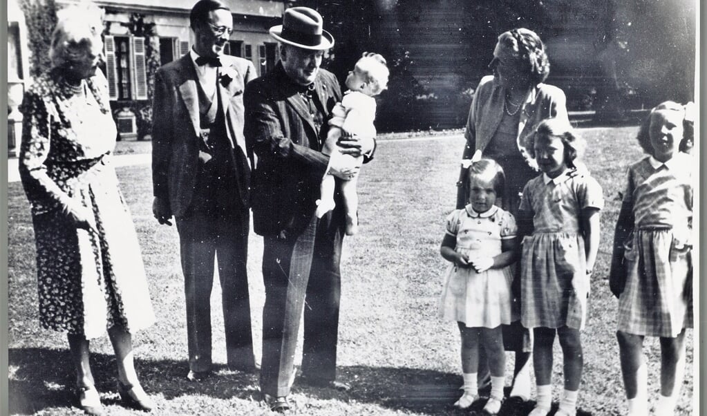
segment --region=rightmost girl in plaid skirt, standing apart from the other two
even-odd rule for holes
[[[643,337],[660,337],[660,397],[655,415],[672,415],[682,383],[685,328],[692,328],[692,176],[696,161],[682,105],[654,108],[638,132],[650,156],[628,169],[614,235],[609,283],[619,298],[621,372],[629,415],[648,415]]]

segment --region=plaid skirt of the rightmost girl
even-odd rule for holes
[[[692,328],[692,262],[676,248],[672,230],[636,230],[624,253],[626,287],[619,296],[618,329],[635,335],[676,337]]]

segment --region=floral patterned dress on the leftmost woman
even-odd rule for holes
[[[97,71],[70,86],[59,71],[37,79],[21,105],[20,175],[31,204],[42,327],[95,338],[130,333],[155,316],[132,217],[110,153],[116,128]],[[70,210],[92,212],[95,231]],[[92,221],[93,220],[93,221]]]

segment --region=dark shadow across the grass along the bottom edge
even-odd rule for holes
[[[8,350],[10,366],[9,408],[13,415],[28,415],[47,408],[69,408],[76,405],[71,389],[76,382],[69,351],[66,349],[11,348]],[[146,391],[162,395],[165,400],[189,395],[206,396],[220,400],[233,398],[258,400],[257,374],[230,371],[216,365],[216,374],[202,381],[191,383],[185,379],[188,366],[185,361],[136,359],[136,368]],[[115,388],[115,359],[112,355],[92,354],[91,369],[96,388],[105,405],[119,402]],[[392,367],[346,366],[339,367],[339,379],[351,384],[347,392],[329,388],[302,386],[295,381],[293,395],[304,395],[320,400],[340,400],[348,403],[374,403],[391,410],[407,410],[427,415],[482,415],[486,400],[477,401],[469,410],[455,410],[452,403],[460,396],[461,377],[428,369]],[[509,388],[506,388],[508,394]],[[110,392],[110,393],[106,393]],[[534,402],[519,403],[506,400],[501,416],[525,416]],[[550,415],[556,411],[553,404]],[[579,410],[578,416],[591,413]]]

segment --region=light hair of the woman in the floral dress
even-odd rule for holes
[[[49,45],[52,68],[103,53],[103,10],[90,3],[67,6],[57,11],[57,25]]]

